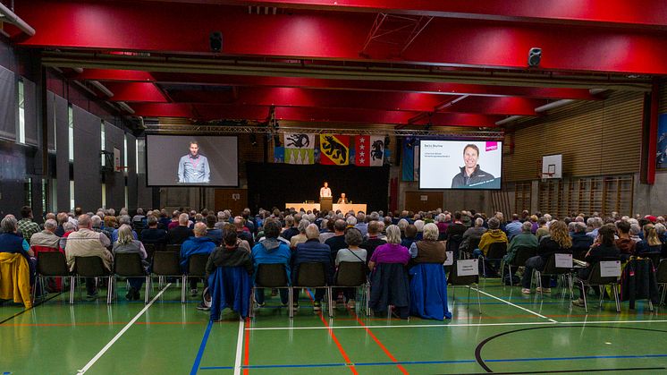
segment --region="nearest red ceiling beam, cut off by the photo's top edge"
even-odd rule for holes
[[[344,12],[417,14],[477,20],[667,26],[663,0],[198,0],[204,4],[243,4]]]

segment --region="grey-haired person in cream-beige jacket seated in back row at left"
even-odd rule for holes
[[[70,270],[74,270],[75,257],[99,257],[108,272],[112,271],[111,264],[114,257],[110,251],[106,250],[104,243],[100,240],[101,233],[93,232],[92,222],[88,215],[79,217],[79,230],[72,231],[67,237],[67,243],[64,248],[65,258]],[[87,299],[89,301],[97,300],[97,288],[95,286],[95,277],[86,277]]]

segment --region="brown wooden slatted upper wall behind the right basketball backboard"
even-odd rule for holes
[[[505,181],[535,180],[542,156],[551,154],[563,155],[563,176],[636,173],[643,100],[642,93],[613,93],[518,124],[514,152],[504,158]]]

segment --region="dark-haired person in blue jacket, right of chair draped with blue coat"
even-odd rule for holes
[[[285,267],[287,280],[291,280],[291,251],[290,245],[283,243],[278,240],[278,235],[280,235],[280,222],[273,219],[267,218],[264,221],[264,239],[260,239],[259,242],[252,248],[252,263],[254,267],[254,276],[257,276],[257,271],[260,264],[283,264]],[[319,235],[319,231],[318,235]],[[283,306],[287,306],[288,303],[288,291],[287,289],[279,289],[280,300],[283,303]],[[258,289],[255,293],[255,301],[258,303],[258,307],[264,306],[264,290]]]

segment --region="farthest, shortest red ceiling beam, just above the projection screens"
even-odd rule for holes
[[[269,107],[134,103],[135,114],[147,117],[183,117],[198,120],[243,119],[264,121]],[[312,107],[276,107],[280,121],[305,123],[408,124],[414,115],[400,111],[368,109],[325,109]],[[437,114],[432,124],[438,126],[494,127],[501,116],[475,114]]]

